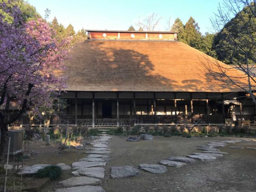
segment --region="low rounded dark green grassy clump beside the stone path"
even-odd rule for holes
[[[37,178],[49,177],[51,180],[57,179],[62,174],[62,169],[57,165],[49,165],[43,169],[39,169],[36,173]]]

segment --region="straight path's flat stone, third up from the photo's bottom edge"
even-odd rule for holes
[[[88,177],[93,177],[97,179],[103,179],[104,171],[105,169],[102,167],[91,167],[91,168],[78,169],[76,171],[73,171],[72,173],[76,176],[88,176]]]

